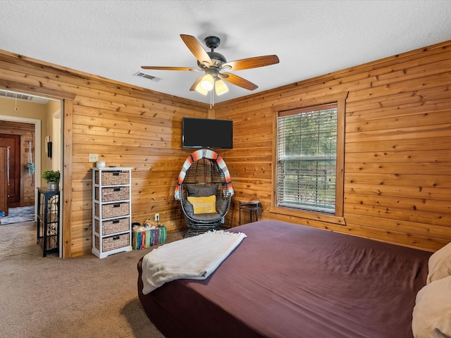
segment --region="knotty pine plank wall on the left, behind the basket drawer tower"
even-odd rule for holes
[[[0,87],[65,99],[63,256],[92,248],[92,173],[88,154],[106,165],[132,167],[132,221],[160,214],[168,231],[183,230],[174,200],[183,116],[206,118],[209,106],[132,87],[0,51]]]

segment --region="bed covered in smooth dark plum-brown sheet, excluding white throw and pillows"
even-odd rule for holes
[[[205,280],[142,293],[165,337],[413,337],[430,252],[261,220]]]

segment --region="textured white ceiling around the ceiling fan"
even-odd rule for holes
[[[451,1],[0,2],[0,49],[205,103],[189,91],[202,73],[141,65],[196,68],[180,34],[203,46],[220,37],[228,61],[278,55],[277,65],[232,71],[259,88],[228,84],[219,102],[451,40]]]

